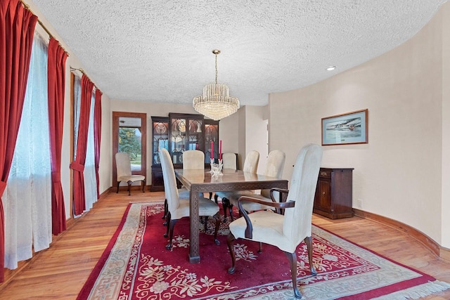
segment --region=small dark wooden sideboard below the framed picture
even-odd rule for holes
[[[315,214],[330,219],[349,218],[352,209],[353,168],[321,168],[314,197]]]

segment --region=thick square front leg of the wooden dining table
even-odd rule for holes
[[[190,263],[200,263],[200,236],[198,230],[200,229],[200,222],[198,219],[198,193],[193,191],[191,188],[191,193],[189,195],[189,216],[190,216],[190,246],[189,246],[189,262]]]

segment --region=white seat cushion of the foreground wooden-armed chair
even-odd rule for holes
[[[253,226],[253,238],[251,240],[274,245],[285,252],[295,252],[298,242],[292,242],[283,235],[283,215],[272,211],[257,211],[248,216]],[[250,240],[245,238],[247,223],[245,223],[243,217],[231,222],[229,228],[234,237]]]

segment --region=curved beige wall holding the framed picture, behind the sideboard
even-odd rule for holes
[[[450,115],[444,112],[443,122],[442,65],[449,60],[442,56],[443,13],[383,56],[304,89],[271,94],[269,143],[280,145],[286,166],[292,165],[302,145],[321,144],[321,118],[368,108],[368,144],[324,146],[322,166],[354,168],[353,207],[406,223],[450,247],[444,232],[450,227],[442,221],[449,219],[442,150]],[[291,173],[285,168],[286,177]]]

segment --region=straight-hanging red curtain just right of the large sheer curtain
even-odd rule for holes
[[[51,223],[53,235],[65,228],[65,207],[61,186],[61,148],[63,147],[65,60],[68,53],[53,37],[49,42],[49,127],[51,149]]]

